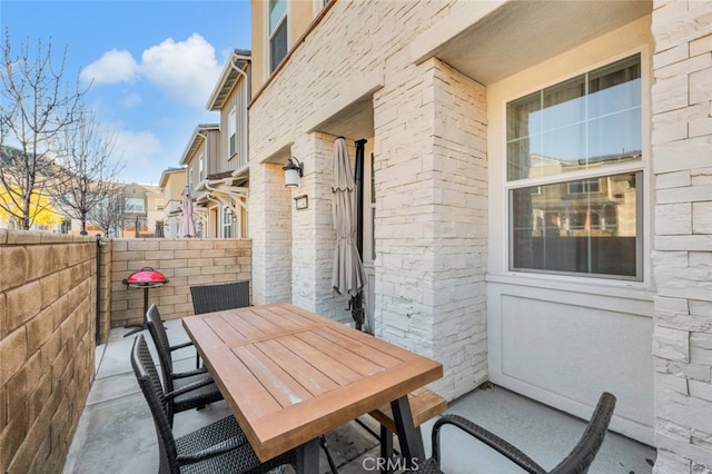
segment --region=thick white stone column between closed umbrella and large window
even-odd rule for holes
[[[375,100],[376,328],[453,398],[486,379],[485,88],[437,59],[399,73]]]

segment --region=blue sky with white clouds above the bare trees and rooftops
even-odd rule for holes
[[[178,167],[198,124],[217,124],[206,103],[229,53],[250,49],[248,0],[0,0],[4,41],[19,49],[51,40],[65,78],[91,87],[85,102],[116,137],[121,179],[157,185]]]

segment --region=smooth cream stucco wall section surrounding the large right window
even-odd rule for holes
[[[651,21],[645,16],[488,85],[490,156],[506,156],[507,101],[633,53],[641,53],[642,115],[646,117],[651,101]],[[643,137],[649,137],[649,120],[643,121]],[[643,159],[634,166],[643,170],[643,206],[650,209],[653,180],[649,140],[643,141]],[[642,282],[513,273],[507,266],[505,159],[491,159],[490,189],[490,379],[580,417],[586,417],[600,393],[609,391],[619,398],[612,428],[653,444],[654,280],[649,257],[653,225],[647,214],[641,214],[645,248]]]

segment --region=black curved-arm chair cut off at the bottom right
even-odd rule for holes
[[[568,453],[568,455],[564,457],[564,460],[558,463],[552,471],[544,470],[522,451],[517,450],[506,441],[488,432],[482,426],[476,425],[469,419],[464,418],[459,415],[443,415],[433,425],[433,457],[426,460],[424,463],[421,463],[418,465],[418,468],[414,471],[414,473],[443,473],[439,466],[439,432],[444,425],[453,425],[463,429],[465,433],[474,436],[493,450],[496,450],[497,452],[500,452],[500,454],[507,457],[514,464],[518,465],[528,473],[585,473],[589,471],[589,466],[591,466],[591,463],[593,462],[596,453],[599,452],[599,448],[601,447],[601,444],[603,443],[603,437],[605,436],[605,433],[609,428],[609,423],[611,423],[613,408],[615,408],[615,396],[604,392],[601,395],[601,398],[599,398],[599,404],[596,405],[593,415],[591,416],[591,421],[589,422],[586,429],[583,432],[583,435],[578,440],[578,444],[576,444],[571,453]]]

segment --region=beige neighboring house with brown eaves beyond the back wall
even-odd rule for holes
[[[180,159],[198,237],[247,237],[249,71],[250,52],[234,50],[207,103],[220,124],[196,127]]]

